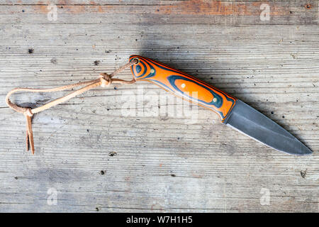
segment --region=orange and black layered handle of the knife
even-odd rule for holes
[[[222,122],[235,106],[236,98],[184,72],[147,57],[131,55],[130,61],[133,59],[138,63],[130,70],[137,81],[152,82],[182,99],[210,109],[220,116]]]

